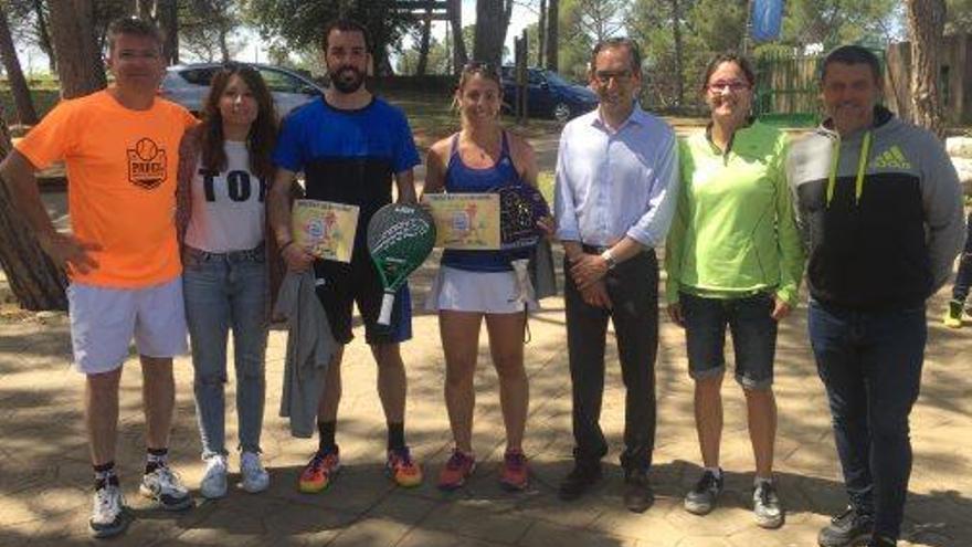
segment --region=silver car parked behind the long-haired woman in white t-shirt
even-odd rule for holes
[[[270,88],[283,118],[294,108],[324,94],[324,88],[309,77],[281,66],[247,63],[256,69]],[[223,67],[222,63],[178,64],[166,70],[166,77],[159,86],[159,94],[179,103],[193,114],[199,114],[209,93],[213,74]]]

